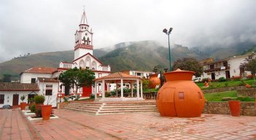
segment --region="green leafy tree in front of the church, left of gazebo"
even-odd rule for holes
[[[77,90],[84,86],[90,86],[93,84],[93,79],[95,79],[94,72],[89,69],[69,69],[60,74],[58,79],[63,83],[64,86]]]

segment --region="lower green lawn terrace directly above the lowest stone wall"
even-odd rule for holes
[[[221,92],[221,93],[206,93],[204,94],[204,98],[206,98],[207,101],[222,101],[223,97],[231,97],[235,98],[239,101],[255,101],[254,98],[249,98],[249,97],[237,97],[237,91],[226,91],[226,92]]]

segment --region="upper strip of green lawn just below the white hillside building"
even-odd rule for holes
[[[203,89],[212,89],[212,88],[223,88],[223,87],[233,87],[233,86],[239,86],[239,85],[245,85],[249,84],[252,85],[252,87],[255,86],[255,80],[254,79],[245,79],[245,80],[233,80],[233,81],[227,81],[227,82],[212,82],[209,84],[209,88],[205,88],[202,82],[195,82],[196,85],[198,85],[199,88]]]

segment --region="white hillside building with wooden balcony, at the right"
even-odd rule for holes
[[[241,63],[244,63],[247,58],[252,59],[254,54],[233,56],[220,61],[212,61],[203,63],[203,74],[201,78],[219,79],[225,77],[226,79],[233,77],[248,77],[251,75],[250,71],[240,69]]]

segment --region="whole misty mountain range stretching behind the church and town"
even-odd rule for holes
[[[256,50],[255,44],[238,44],[234,47],[171,47],[171,62],[179,58],[214,58],[215,60],[241,55]],[[168,48],[154,41],[122,42],[112,47],[93,50],[93,55],[104,64],[112,67],[112,72],[123,70],[152,71],[154,66],[168,68]],[[13,58],[0,63],[0,79],[3,74],[11,74],[12,79],[19,79],[20,72],[34,66],[58,67],[61,61],[71,62],[74,50],[60,52],[42,52]]]

